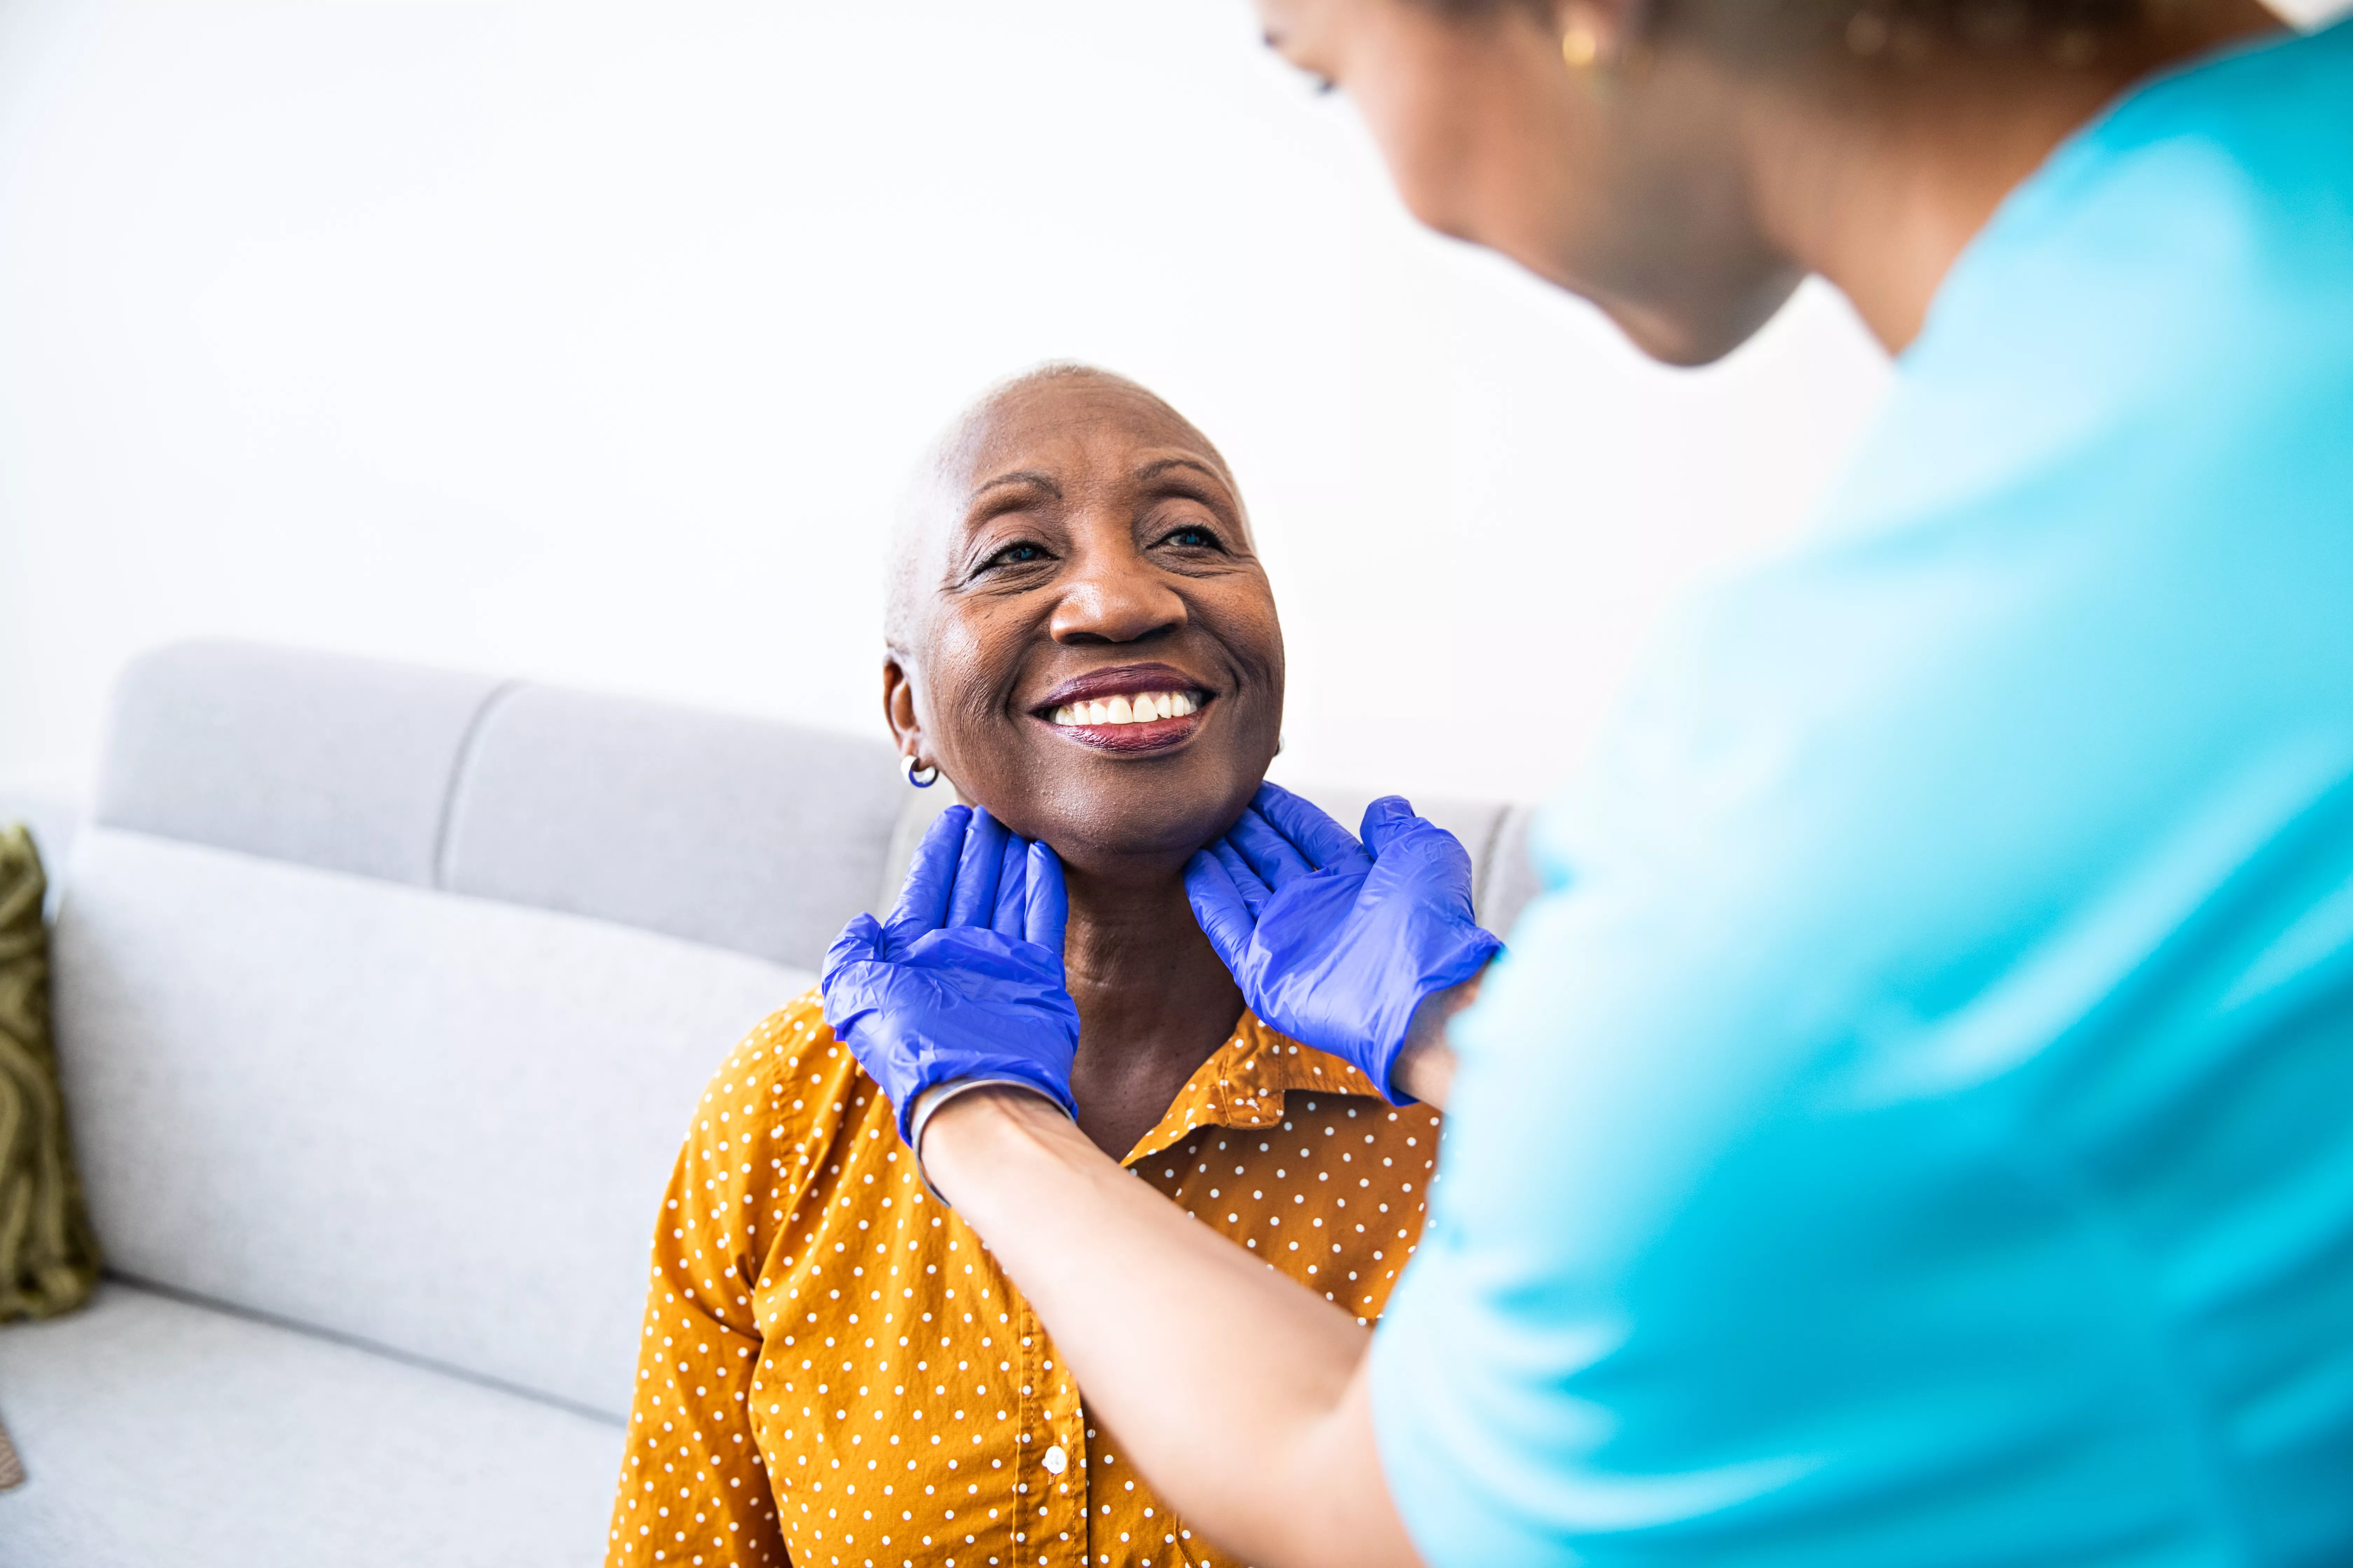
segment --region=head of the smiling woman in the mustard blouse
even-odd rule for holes
[[[1266,776],[1282,628],[1217,449],[1108,376],[1016,383],[906,548],[901,750],[1082,875],[1174,875]]]

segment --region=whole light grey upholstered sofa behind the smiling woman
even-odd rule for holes
[[[111,1276],[0,1326],[0,1568],[600,1561],[687,1112],[894,896],[948,799],[894,764],[318,654],[139,661],[87,820],[33,813]],[[1525,813],[1424,809],[1508,926]]]

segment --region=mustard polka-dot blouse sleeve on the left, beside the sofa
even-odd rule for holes
[[[711,1079],[664,1194],[607,1568],[791,1563],[751,1420],[753,1284],[769,1215],[798,1197],[767,1128],[774,1034],[769,1020]]]

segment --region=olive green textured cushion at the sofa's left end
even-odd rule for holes
[[[99,1284],[56,1091],[42,893],[33,835],[0,827],[0,1321],[71,1312]]]

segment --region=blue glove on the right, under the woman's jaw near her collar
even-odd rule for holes
[[[1249,1011],[1381,1086],[1424,997],[1504,943],[1471,914],[1471,856],[1400,795],[1365,809],[1365,842],[1280,785],[1184,872],[1193,917]]]

